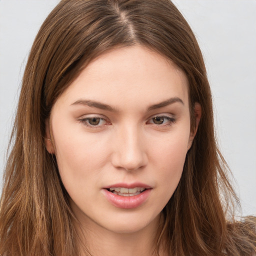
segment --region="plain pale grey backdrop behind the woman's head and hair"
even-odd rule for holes
[[[29,49],[58,0],[0,0],[0,178]],[[220,149],[256,213],[256,0],[174,0],[205,59]]]

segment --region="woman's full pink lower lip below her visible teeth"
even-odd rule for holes
[[[103,189],[106,199],[115,207],[122,209],[133,209],[143,204],[150,194],[151,189],[145,189],[143,192],[132,196],[122,196],[114,194],[107,189]]]

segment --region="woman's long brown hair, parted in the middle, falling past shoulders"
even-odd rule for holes
[[[61,0],[34,40],[22,80],[1,196],[0,255],[79,254],[68,194],[55,158],[44,146],[45,120],[57,97],[89,61],[113,47],[134,44],[162,54],[186,74],[191,129],[194,103],[202,107],[181,179],[163,209],[157,246],[164,240],[172,256],[256,252],[255,218],[232,218],[238,199],[215,140],[202,54],[174,4],[169,0]]]

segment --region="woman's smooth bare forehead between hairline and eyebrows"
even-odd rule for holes
[[[187,79],[174,63],[144,46],[112,49],[92,60],[60,96],[120,105],[150,105],[169,97],[188,104]]]

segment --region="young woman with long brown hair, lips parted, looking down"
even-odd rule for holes
[[[0,255],[253,255],[196,39],[169,0],[62,0],[33,43]]]

